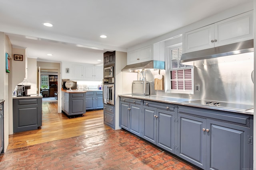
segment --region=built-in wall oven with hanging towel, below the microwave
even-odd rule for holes
[[[104,104],[115,104],[115,85],[114,84],[103,84],[103,103]]]

